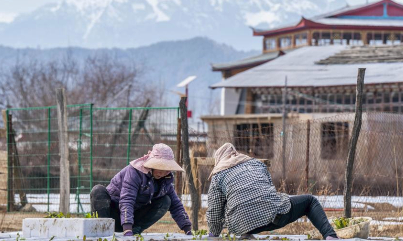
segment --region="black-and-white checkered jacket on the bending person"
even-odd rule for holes
[[[230,233],[247,233],[291,208],[288,195],[276,191],[266,165],[256,159],[216,173],[208,205],[207,223],[215,235],[224,226]]]

